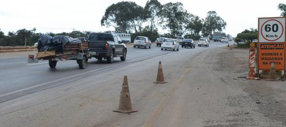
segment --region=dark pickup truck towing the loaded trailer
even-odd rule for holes
[[[90,42],[90,54],[97,60],[106,59],[107,63],[113,63],[114,57],[126,60],[127,48],[125,41],[121,40],[116,33],[91,33],[88,38]]]

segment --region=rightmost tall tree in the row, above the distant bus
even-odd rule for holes
[[[212,32],[221,32],[226,26],[227,23],[215,11],[209,11],[204,21],[203,33],[212,35]]]

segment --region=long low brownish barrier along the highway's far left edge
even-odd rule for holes
[[[0,46],[0,53],[37,51],[37,46]]]

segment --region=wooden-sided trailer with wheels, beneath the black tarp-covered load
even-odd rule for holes
[[[48,61],[50,68],[55,68],[58,61],[75,60],[79,64],[80,69],[84,69],[91,59],[92,55],[89,53],[89,41],[81,43],[69,43],[62,46],[62,52],[44,51],[38,52],[37,55],[29,55],[28,63],[38,63],[38,61]]]

